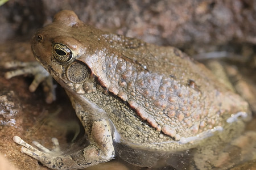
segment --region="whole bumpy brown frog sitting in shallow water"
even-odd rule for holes
[[[58,12],[39,29],[31,49],[67,92],[85,131],[86,142],[67,151],[56,138],[49,150],[13,137],[23,153],[51,169],[81,169],[116,156],[154,167],[158,156],[212,151],[251,119],[247,101],[181,50],[101,31],[73,11]]]

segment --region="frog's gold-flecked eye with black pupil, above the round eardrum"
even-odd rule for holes
[[[53,45],[52,55],[57,61],[61,63],[71,61],[73,58],[71,50],[66,45],[60,43]]]

